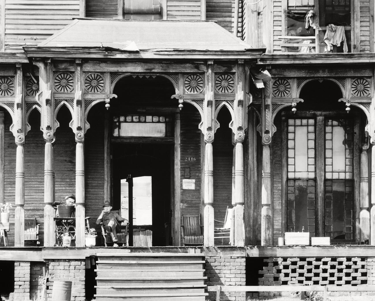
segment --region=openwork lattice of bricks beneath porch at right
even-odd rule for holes
[[[259,285],[367,284],[366,258],[268,258],[259,271]]]

